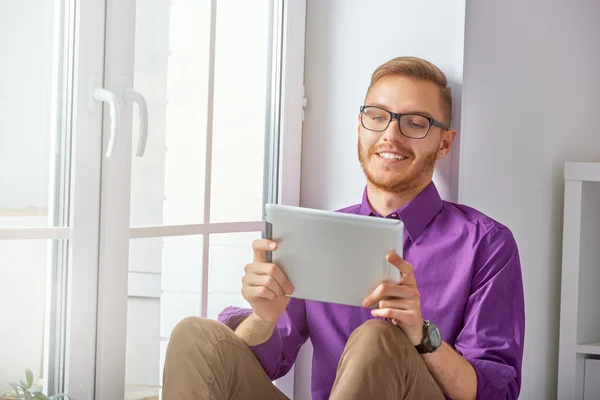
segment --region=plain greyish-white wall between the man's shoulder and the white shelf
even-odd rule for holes
[[[522,399],[556,398],[562,171],[600,161],[598,21],[593,0],[467,2],[459,199],[519,244]]]

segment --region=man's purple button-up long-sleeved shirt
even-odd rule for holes
[[[381,217],[366,189],[362,203],[339,211]],[[473,365],[477,398],[517,399],[525,307],[512,233],[470,207],[442,200],[433,182],[386,218],[404,222],[404,258],[414,267],[423,319],[438,325],[444,341]],[[219,321],[235,329],[250,312],[228,307]],[[366,308],[292,298],[271,338],[251,349],[275,380],[310,338],[312,397],[327,399],[348,337],[372,318]]]

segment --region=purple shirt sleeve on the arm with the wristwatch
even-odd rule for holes
[[[477,399],[516,400],[525,336],[517,244],[502,227],[488,232],[476,251],[464,327],[455,348],[477,373]]]

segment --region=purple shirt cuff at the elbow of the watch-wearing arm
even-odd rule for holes
[[[474,359],[469,362],[477,374],[477,399],[517,398],[518,393],[511,393],[517,387],[516,382],[509,385],[517,377],[513,367],[490,360]]]

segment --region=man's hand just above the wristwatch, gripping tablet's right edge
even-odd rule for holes
[[[400,270],[402,281],[380,284],[363,300],[363,306],[379,303],[379,309],[371,314],[391,320],[416,346],[423,340],[423,316],[413,267],[395,252],[387,255],[387,261]]]

